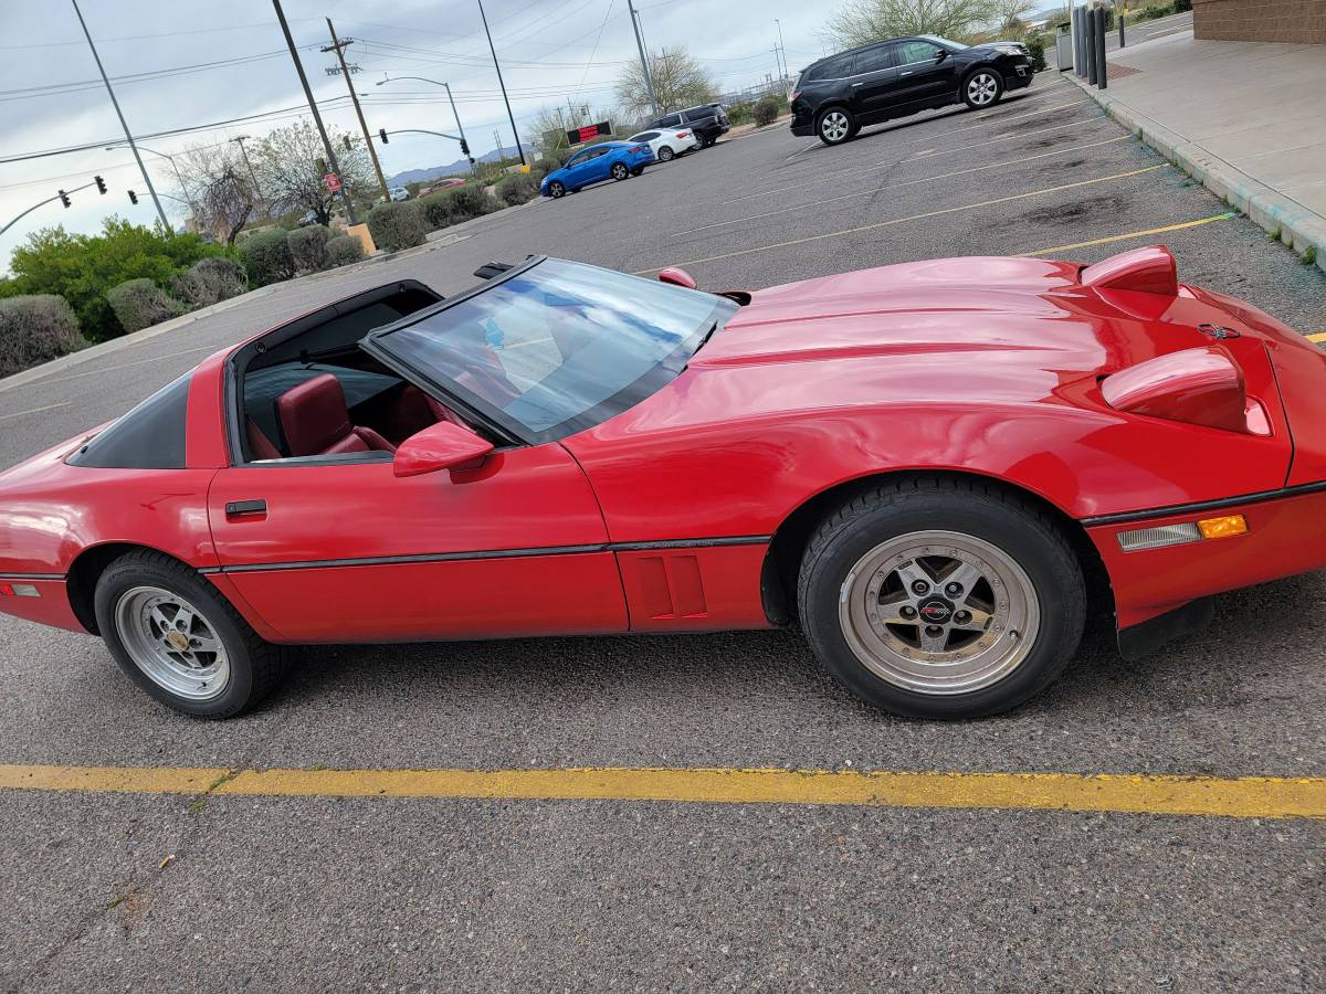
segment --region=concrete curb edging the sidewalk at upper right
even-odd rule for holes
[[[1114,121],[1160,152],[1231,207],[1242,211],[1269,233],[1299,254],[1309,248],[1317,252],[1317,265],[1326,270],[1326,217],[1309,211],[1296,200],[1272,190],[1246,172],[1235,168],[1196,142],[1189,142],[1164,125],[1152,121],[1109,93],[1095,90],[1075,74],[1061,73],[1091,97]]]

